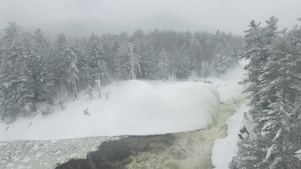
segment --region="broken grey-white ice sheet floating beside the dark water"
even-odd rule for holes
[[[64,163],[70,158],[85,158],[91,149],[95,149],[103,142],[120,138],[123,137],[64,139],[53,144],[50,141],[8,141],[5,142],[8,143],[7,146],[0,148],[0,168],[17,168],[18,166],[24,168],[55,168],[57,163]],[[27,144],[28,142],[31,142],[31,144]],[[33,145],[38,145],[39,149],[35,149]],[[8,150],[16,149],[21,151],[7,153]]]

